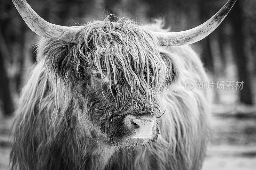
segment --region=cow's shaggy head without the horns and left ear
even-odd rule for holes
[[[84,93],[91,122],[116,145],[156,141],[156,97],[177,76],[156,38],[125,18],[91,21],[78,37],[79,56],[88,64]]]

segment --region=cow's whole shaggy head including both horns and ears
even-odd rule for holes
[[[46,63],[74,89],[76,103],[93,135],[124,147],[157,140],[157,97],[172,84],[178,68],[158,46],[195,43],[209,35],[236,0],[229,0],[204,24],[173,33],[150,32],[130,19],[91,21],[64,27],[46,22],[25,0],[12,0],[22,18],[44,40]],[[79,105],[79,104],[78,104]]]

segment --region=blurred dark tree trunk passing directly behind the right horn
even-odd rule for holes
[[[207,5],[205,4],[207,2],[203,2],[203,3],[197,2],[197,3],[198,3],[198,9],[199,9],[200,24],[202,24],[210,18],[209,8],[207,8]],[[214,74],[213,55],[211,51],[211,42],[210,42],[211,36],[212,35],[209,35],[200,41],[201,47],[202,47],[201,59],[204,63],[204,67],[206,68],[206,70]]]

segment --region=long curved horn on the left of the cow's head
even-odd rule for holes
[[[76,43],[76,28],[51,24],[41,18],[25,0],[12,0],[28,27],[37,35],[59,41]]]

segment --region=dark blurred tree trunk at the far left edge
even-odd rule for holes
[[[3,104],[4,115],[11,115],[14,112],[14,106],[9,87],[9,79],[4,66],[2,48],[0,48],[0,101]]]

